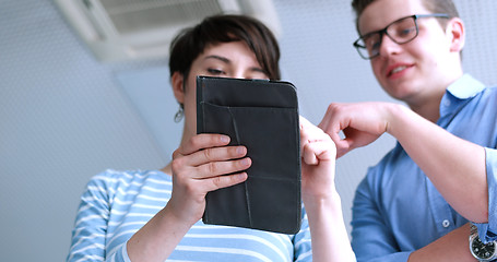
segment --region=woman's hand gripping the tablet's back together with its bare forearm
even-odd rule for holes
[[[173,193],[167,205],[128,241],[131,261],[164,261],[205,210],[205,194],[247,179],[245,146],[229,138],[198,134],[173,153]],[[236,172],[235,175],[226,175]]]

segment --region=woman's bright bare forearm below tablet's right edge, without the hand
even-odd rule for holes
[[[333,190],[334,191],[334,190]],[[312,260],[326,262],[355,261],[343,221],[340,195],[328,199],[304,196],[312,241]]]

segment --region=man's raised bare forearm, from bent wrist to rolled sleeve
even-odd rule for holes
[[[447,202],[465,218],[488,221],[485,151],[402,106],[391,106],[387,131],[395,136]]]

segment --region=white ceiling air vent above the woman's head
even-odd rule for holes
[[[271,0],[55,0],[100,61],[166,58],[184,27],[218,13],[241,13],[264,22],[277,36]]]

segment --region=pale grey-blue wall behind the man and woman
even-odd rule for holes
[[[274,2],[283,76],[297,86],[304,116],[317,123],[330,102],[389,100],[352,48],[350,1]],[[468,26],[466,72],[497,84],[497,1],[457,4]],[[163,86],[167,96],[162,72],[166,59],[96,61],[50,0],[0,0],[0,261],[64,260],[90,177],[167,163],[176,144],[158,143],[166,134],[150,118],[179,136],[176,104],[166,97],[165,111],[146,112],[132,95]],[[393,143],[384,136],[339,160],[347,222],[357,182]]]

